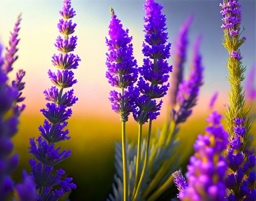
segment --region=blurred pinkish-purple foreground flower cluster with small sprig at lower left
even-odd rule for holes
[[[179,188],[179,199],[187,201],[225,200],[225,172],[227,164],[222,155],[227,148],[228,133],[225,132],[217,110],[209,114],[205,135],[199,134],[193,145],[195,154],[190,157],[186,177],[174,174],[175,184]]]

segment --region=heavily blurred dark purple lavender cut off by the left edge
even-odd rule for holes
[[[7,116],[6,113],[12,110],[18,90],[6,83],[8,78],[3,68],[1,53],[2,46],[0,44],[0,198],[6,200],[13,192],[14,182],[11,179],[11,174],[19,163],[18,154],[11,155],[13,152],[11,137],[18,131],[18,119],[15,114]]]

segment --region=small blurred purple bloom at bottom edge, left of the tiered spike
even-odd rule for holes
[[[33,177],[27,175],[25,170],[22,171],[23,180],[15,186],[20,201],[35,201],[37,200],[37,192]]]

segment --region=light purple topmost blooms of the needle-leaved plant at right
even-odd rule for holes
[[[227,0],[220,3],[222,8],[221,15],[223,16],[222,21],[223,24],[221,26],[224,29],[224,32],[229,33],[231,36],[238,36],[240,31],[241,24],[241,11],[240,7],[242,7],[238,0]]]

